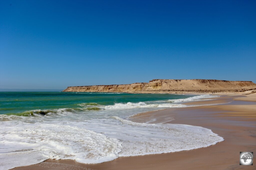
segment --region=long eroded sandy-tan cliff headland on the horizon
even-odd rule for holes
[[[155,79],[148,83],[133,83],[121,85],[73,86],[66,88],[65,92],[123,92],[123,93],[174,93],[174,92],[210,92],[256,89],[251,81],[225,81],[225,80],[169,80]]]

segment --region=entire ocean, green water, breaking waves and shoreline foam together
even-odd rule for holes
[[[214,145],[210,129],[136,123],[129,116],[187,107],[211,95],[88,92],[0,92],[1,169],[47,159],[102,163],[120,156],[168,153]]]

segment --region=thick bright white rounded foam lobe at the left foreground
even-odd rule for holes
[[[12,128],[3,126],[1,132],[4,132],[4,142],[0,143],[3,169],[37,164],[46,159],[102,163],[118,158],[122,147],[117,139],[69,125],[18,124]],[[36,159],[29,159],[34,156]],[[24,164],[28,159],[29,163]]]

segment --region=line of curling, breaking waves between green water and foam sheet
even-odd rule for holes
[[[98,104],[95,102],[89,103],[79,103],[77,104],[77,108],[61,108],[61,109],[46,109],[46,110],[30,110],[21,113],[8,113],[8,114],[1,114],[0,120],[7,120],[7,119],[16,119],[20,116],[49,116],[52,114],[58,115],[65,115],[65,114],[72,114],[77,112],[84,112],[84,111],[100,111],[100,110],[113,110],[113,109],[134,109],[134,108],[180,108],[180,107],[188,107],[185,104],[181,104],[182,102],[189,102],[189,101],[198,101],[200,99],[205,100],[212,100],[210,98],[219,97],[219,96],[211,96],[211,95],[199,95],[193,96],[185,99],[172,99],[167,101],[155,101],[155,102],[138,102],[138,103],[115,103],[114,105],[104,106],[102,104]],[[210,104],[211,105],[211,104]],[[191,106],[190,106],[191,107]]]

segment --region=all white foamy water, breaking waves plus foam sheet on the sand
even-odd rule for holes
[[[210,98],[201,95],[187,100],[206,97]],[[175,102],[182,101],[176,99]],[[47,159],[102,163],[119,156],[191,150],[224,140],[203,127],[135,123],[124,119],[138,112],[186,107],[180,103],[128,102],[111,106],[81,103],[79,106],[83,108],[55,109],[47,116],[1,115],[0,118],[5,121],[0,121],[0,169],[37,164]],[[99,107],[101,110],[83,110],[89,107]],[[33,112],[41,111],[47,110]]]

